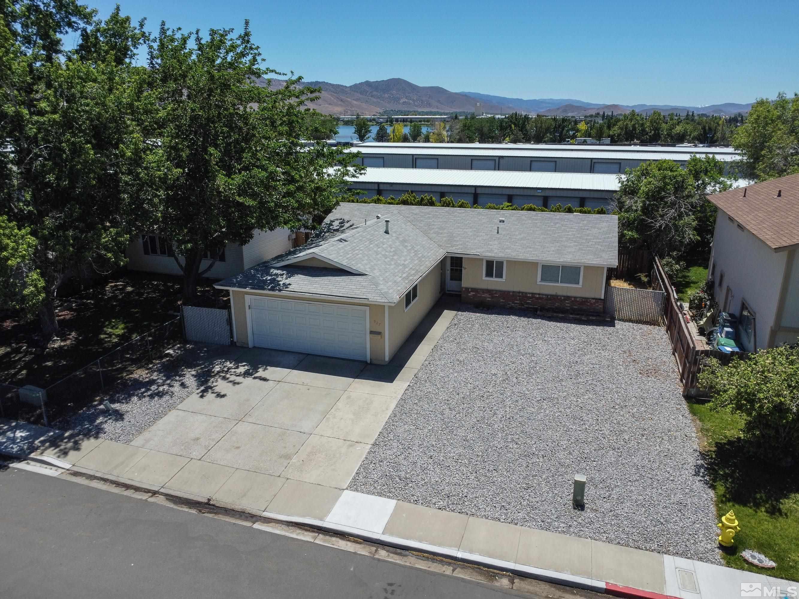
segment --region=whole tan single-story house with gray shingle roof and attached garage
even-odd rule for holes
[[[221,281],[244,347],[387,363],[443,292],[602,312],[616,216],[341,204],[301,248]]]

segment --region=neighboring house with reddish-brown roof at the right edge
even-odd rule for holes
[[[710,276],[745,351],[799,338],[799,175],[708,196],[718,207]]]

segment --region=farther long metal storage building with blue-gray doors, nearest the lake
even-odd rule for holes
[[[672,160],[685,166],[697,148],[658,148],[624,146],[625,149],[597,149],[597,146],[455,145],[455,144],[361,144],[358,163],[387,169],[450,169],[487,171],[527,171],[536,173],[624,173],[647,161]],[[527,149],[534,147],[535,149]],[[560,148],[569,147],[564,150]],[[665,150],[670,150],[666,152]],[[678,151],[674,151],[678,150]],[[729,163],[737,153],[709,153]],[[729,167],[726,169],[729,172]]]

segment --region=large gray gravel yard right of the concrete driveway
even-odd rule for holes
[[[466,308],[349,489],[721,563],[703,475],[661,328]]]

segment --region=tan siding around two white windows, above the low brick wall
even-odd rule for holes
[[[463,258],[463,287],[602,299],[605,268],[582,267],[582,286],[539,284],[539,263],[505,260],[505,280],[483,279],[483,259]]]

